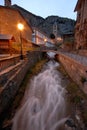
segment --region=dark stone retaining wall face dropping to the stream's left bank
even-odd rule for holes
[[[14,73],[12,77],[10,77],[10,79],[8,79],[3,91],[0,93],[0,119],[3,115],[3,112],[5,112],[15,97],[27,71],[42,58],[42,53],[29,52],[27,57],[28,58],[24,60],[24,63],[21,65],[21,67]]]

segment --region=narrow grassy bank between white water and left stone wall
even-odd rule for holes
[[[5,119],[2,124],[2,130],[11,130],[12,118],[14,117],[15,112],[21,104],[24,92],[27,87],[27,83],[34,75],[37,75],[41,71],[42,66],[46,63],[46,61],[46,59],[40,60],[27,72],[23,82],[21,83],[20,89],[18,90],[16,97],[14,98],[13,103],[11,104],[8,112],[5,113]]]

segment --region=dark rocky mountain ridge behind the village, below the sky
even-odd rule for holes
[[[74,33],[75,20],[59,16],[48,16],[44,19],[40,16],[32,14],[18,5],[12,5],[12,8],[20,11],[20,13],[32,27],[39,28],[48,36],[53,33],[53,24],[55,22],[57,23],[58,34],[63,35],[67,33]]]

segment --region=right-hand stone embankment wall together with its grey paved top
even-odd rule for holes
[[[57,53],[56,58],[71,79],[87,94],[87,58],[70,53]]]

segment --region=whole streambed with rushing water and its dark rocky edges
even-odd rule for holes
[[[13,106],[10,112],[12,118],[8,114],[1,130],[87,130],[78,116],[80,109],[76,112],[76,106],[69,101],[72,96],[67,91],[67,85],[71,80],[59,71],[60,68],[52,55],[41,71],[28,79],[20,105]],[[83,101],[81,110],[85,106]]]

